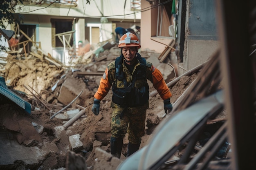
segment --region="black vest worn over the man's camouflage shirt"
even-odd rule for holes
[[[115,82],[112,86],[112,102],[122,107],[144,106],[149,99],[149,87],[146,77],[146,59],[137,53],[140,64],[131,73],[131,82],[125,77],[123,55],[115,60]]]

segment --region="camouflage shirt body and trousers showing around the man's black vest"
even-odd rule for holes
[[[124,62],[124,61],[123,61]],[[139,65],[138,62],[135,68]],[[131,82],[132,74],[128,71],[128,68],[123,65],[123,71],[126,76],[126,81]],[[152,64],[147,62],[146,73],[149,80],[152,80],[150,68]],[[135,68],[133,71],[135,71]],[[111,82],[117,81],[118,88],[124,88],[124,82],[119,81],[115,77],[115,62],[108,65],[109,80]],[[135,87],[141,86],[143,80],[135,82]],[[119,104],[111,102],[112,116],[111,116],[111,135],[112,137],[124,137],[128,132],[128,140],[132,144],[139,144],[141,137],[144,135],[145,121],[146,121],[146,109],[148,109],[148,102],[144,106],[136,107],[121,107]]]

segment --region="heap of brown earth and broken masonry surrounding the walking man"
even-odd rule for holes
[[[0,169],[22,167],[53,170],[69,167],[71,170],[81,165],[83,169],[104,170],[114,169],[126,159],[127,137],[124,139],[121,159],[112,159],[111,166],[99,166],[99,163],[108,165],[110,160],[103,157],[102,152],[110,152],[112,91],[101,101],[101,113],[98,116],[91,111],[93,95],[103,71],[120,55],[120,49],[112,46],[96,54],[83,56],[87,60],[74,60],[75,65],[72,67],[63,66],[54,59],[39,59],[33,55],[7,57],[7,64],[0,75],[4,77],[8,88],[33,108],[29,114],[13,102],[6,102],[3,96],[0,97]],[[159,63],[159,54],[152,51],[141,51],[140,54],[162,71],[166,83],[171,81],[172,68]],[[195,77],[196,74],[184,76],[170,88],[172,103]],[[154,91],[150,82],[149,85],[150,92]],[[165,114],[159,95],[150,97],[149,102],[141,147],[146,145]],[[80,116],[75,117],[78,114]]]

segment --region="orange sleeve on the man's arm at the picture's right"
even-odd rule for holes
[[[164,81],[164,77],[163,77],[162,73],[154,66],[151,67],[151,71],[152,71],[153,86],[159,93],[160,97],[163,100],[170,98],[172,96],[172,94]]]

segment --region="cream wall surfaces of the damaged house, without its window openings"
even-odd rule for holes
[[[84,1],[84,2],[83,2]],[[101,6],[101,2],[103,6]],[[41,48],[46,53],[52,54],[52,25],[51,18],[59,19],[77,19],[76,22],[76,43],[85,37],[85,25],[86,24],[101,24],[100,18],[103,11],[110,20],[140,20],[141,13],[133,15],[134,11],[130,10],[130,0],[126,2],[126,8],[124,11],[125,0],[91,0],[90,4],[86,4],[85,0],[78,0],[77,7],[69,7],[67,5],[61,5],[60,7],[54,7],[53,4],[49,7],[49,4],[40,5],[21,5],[20,9],[17,7],[17,13],[23,13],[24,24],[38,24],[39,28],[39,41],[41,42]],[[25,2],[24,2],[25,3]],[[58,4],[60,5],[60,4]],[[98,7],[99,9],[98,9]],[[126,14],[126,16],[124,16]],[[130,15],[129,15],[130,14]],[[112,23],[101,24],[101,41],[112,39]]]

